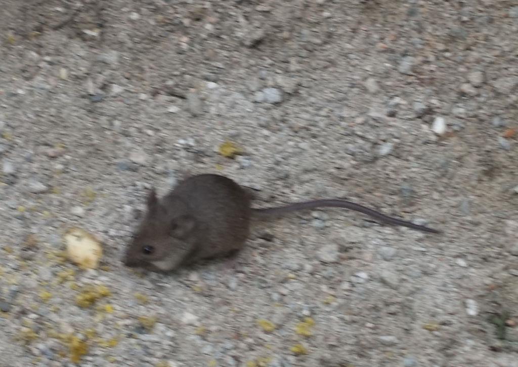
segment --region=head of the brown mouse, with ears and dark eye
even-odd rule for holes
[[[152,189],[146,215],[127,245],[123,262],[128,267],[173,270],[192,252],[196,227],[196,220],[183,201],[168,197],[164,205]]]

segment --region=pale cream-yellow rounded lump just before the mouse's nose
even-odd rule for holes
[[[68,258],[83,269],[95,269],[99,266],[103,249],[100,241],[81,228],[70,228],[65,234]]]

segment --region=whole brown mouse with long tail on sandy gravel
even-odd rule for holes
[[[247,190],[218,174],[188,177],[162,198],[152,188],[147,195],[146,211],[126,245],[123,264],[168,272],[202,259],[230,255],[243,248],[253,217],[271,218],[321,207],[351,209],[385,224],[440,233],[338,198],[270,208],[252,208],[251,201]]]

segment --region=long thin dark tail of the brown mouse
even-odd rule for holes
[[[379,211],[367,208],[363,205],[359,205],[353,202],[349,202],[347,200],[340,200],[340,199],[323,199],[323,200],[313,200],[309,202],[301,202],[301,203],[294,203],[289,204],[286,206],[279,206],[279,207],[273,207],[273,208],[264,208],[264,209],[252,209],[253,213],[257,215],[258,217],[270,217],[270,216],[279,216],[286,213],[290,213],[293,211],[298,210],[305,210],[305,209],[316,209],[316,208],[322,208],[322,207],[335,207],[335,208],[345,208],[345,209],[351,209],[354,211],[361,212],[367,216],[370,216],[372,218],[378,219],[379,221],[387,224],[393,224],[393,225],[399,225],[403,227],[412,228],[413,230],[419,230],[423,232],[430,232],[430,233],[440,233],[438,230],[434,230],[433,228],[426,227],[424,225],[415,224],[412,222],[404,221],[402,219],[397,219],[393,217],[386,216]]]

